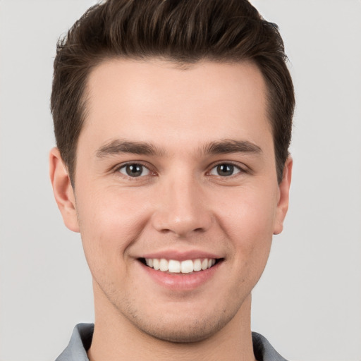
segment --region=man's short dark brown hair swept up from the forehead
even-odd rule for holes
[[[109,0],[92,6],[57,44],[51,113],[56,145],[72,183],[87,78],[94,66],[114,57],[254,62],[267,84],[281,181],[295,96],[278,27],[247,0]]]

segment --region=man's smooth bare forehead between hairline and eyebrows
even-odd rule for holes
[[[190,66],[111,59],[90,73],[80,135],[90,145],[126,138],[187,146],[270,135],[266,85],[255,64],[203,61]],[[90,136],[93,135],[93,136]],[[149,139],[151,138],[151,139]]]

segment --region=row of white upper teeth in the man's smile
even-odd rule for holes
[[[146,258],[145,263],[148,267],[154,268],[156,271],[170,272],[172,274],[190,274],[193,271],[204,271],[216,264],[214,258],[204,259],[186,259],[185,261],[176,261],[174,259]]]

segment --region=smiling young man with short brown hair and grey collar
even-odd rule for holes
[[[250,305],[288,209],[285,59],[245,0],[110,0],[59,42],[51,183],[95,322],[57,360],[284,360]]]

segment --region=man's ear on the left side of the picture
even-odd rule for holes
[[[58,204],[64,224],[74,232],[79,232],[78,215],[71,180],[58,148],[49,154],[49,173],[54,197]]]

